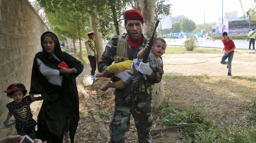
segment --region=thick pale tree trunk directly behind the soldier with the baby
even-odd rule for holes
[[[143,24],[143,35],[151,38],[155,27],[156,0],[135,0],[135,8],[142,12],[145,23]],[[165,92],[162,81],[153,85],[152,106],[157,108],[160,104],[166,104]]]

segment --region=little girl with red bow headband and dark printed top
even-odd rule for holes
[[[14,115],[16,119],[15,128],[18,135],[29,135],[34,133],[36,122],[32,118],[33,115],[29,105],[33,101],[42,100],[42,98],[25,96],[27,94],[27,90],[25,85],[22,83],[13,83],[9,85],[5,93],[7,93],[7,96],[12,98],[14,101],[6,105],[9,109],[9,113],[7,119],[3,123],[7,123],[12,115]]]

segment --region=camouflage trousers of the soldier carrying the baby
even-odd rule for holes
[[[137,128],[138,142],[151,143],[150,129],[152,117],[152,95],[140,94],[133,105],[128,105],[121,97],[115,97],[115,112],[110,124],[110,142],[122,143],[130,127],[130,118],[133,115]]]

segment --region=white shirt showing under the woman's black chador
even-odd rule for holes
[[[55,59],[59,61],[56,55],[53,55]],[[63,76],[59,75],[60,71],[58,69],[53,69],[43,63],[40,59],[36,58],[37,64],[39,66],[39,71],[44,75],[48,82],[61,86]]]

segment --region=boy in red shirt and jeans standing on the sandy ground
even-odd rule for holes
[[[234,42],[232,39],[230,39],[227,36],[226,32],[223,32],[222,34],[222,43],[224,44],[224,48],[222,50],[223,56],[221,59],[221,64],[227,65],[228,68],[228,76],[232,76],[231,74],[231,64],[234,56],[234,49],[236,49],[236,46],[234,45]],[[228,58],[228,61],[225,61]]]

